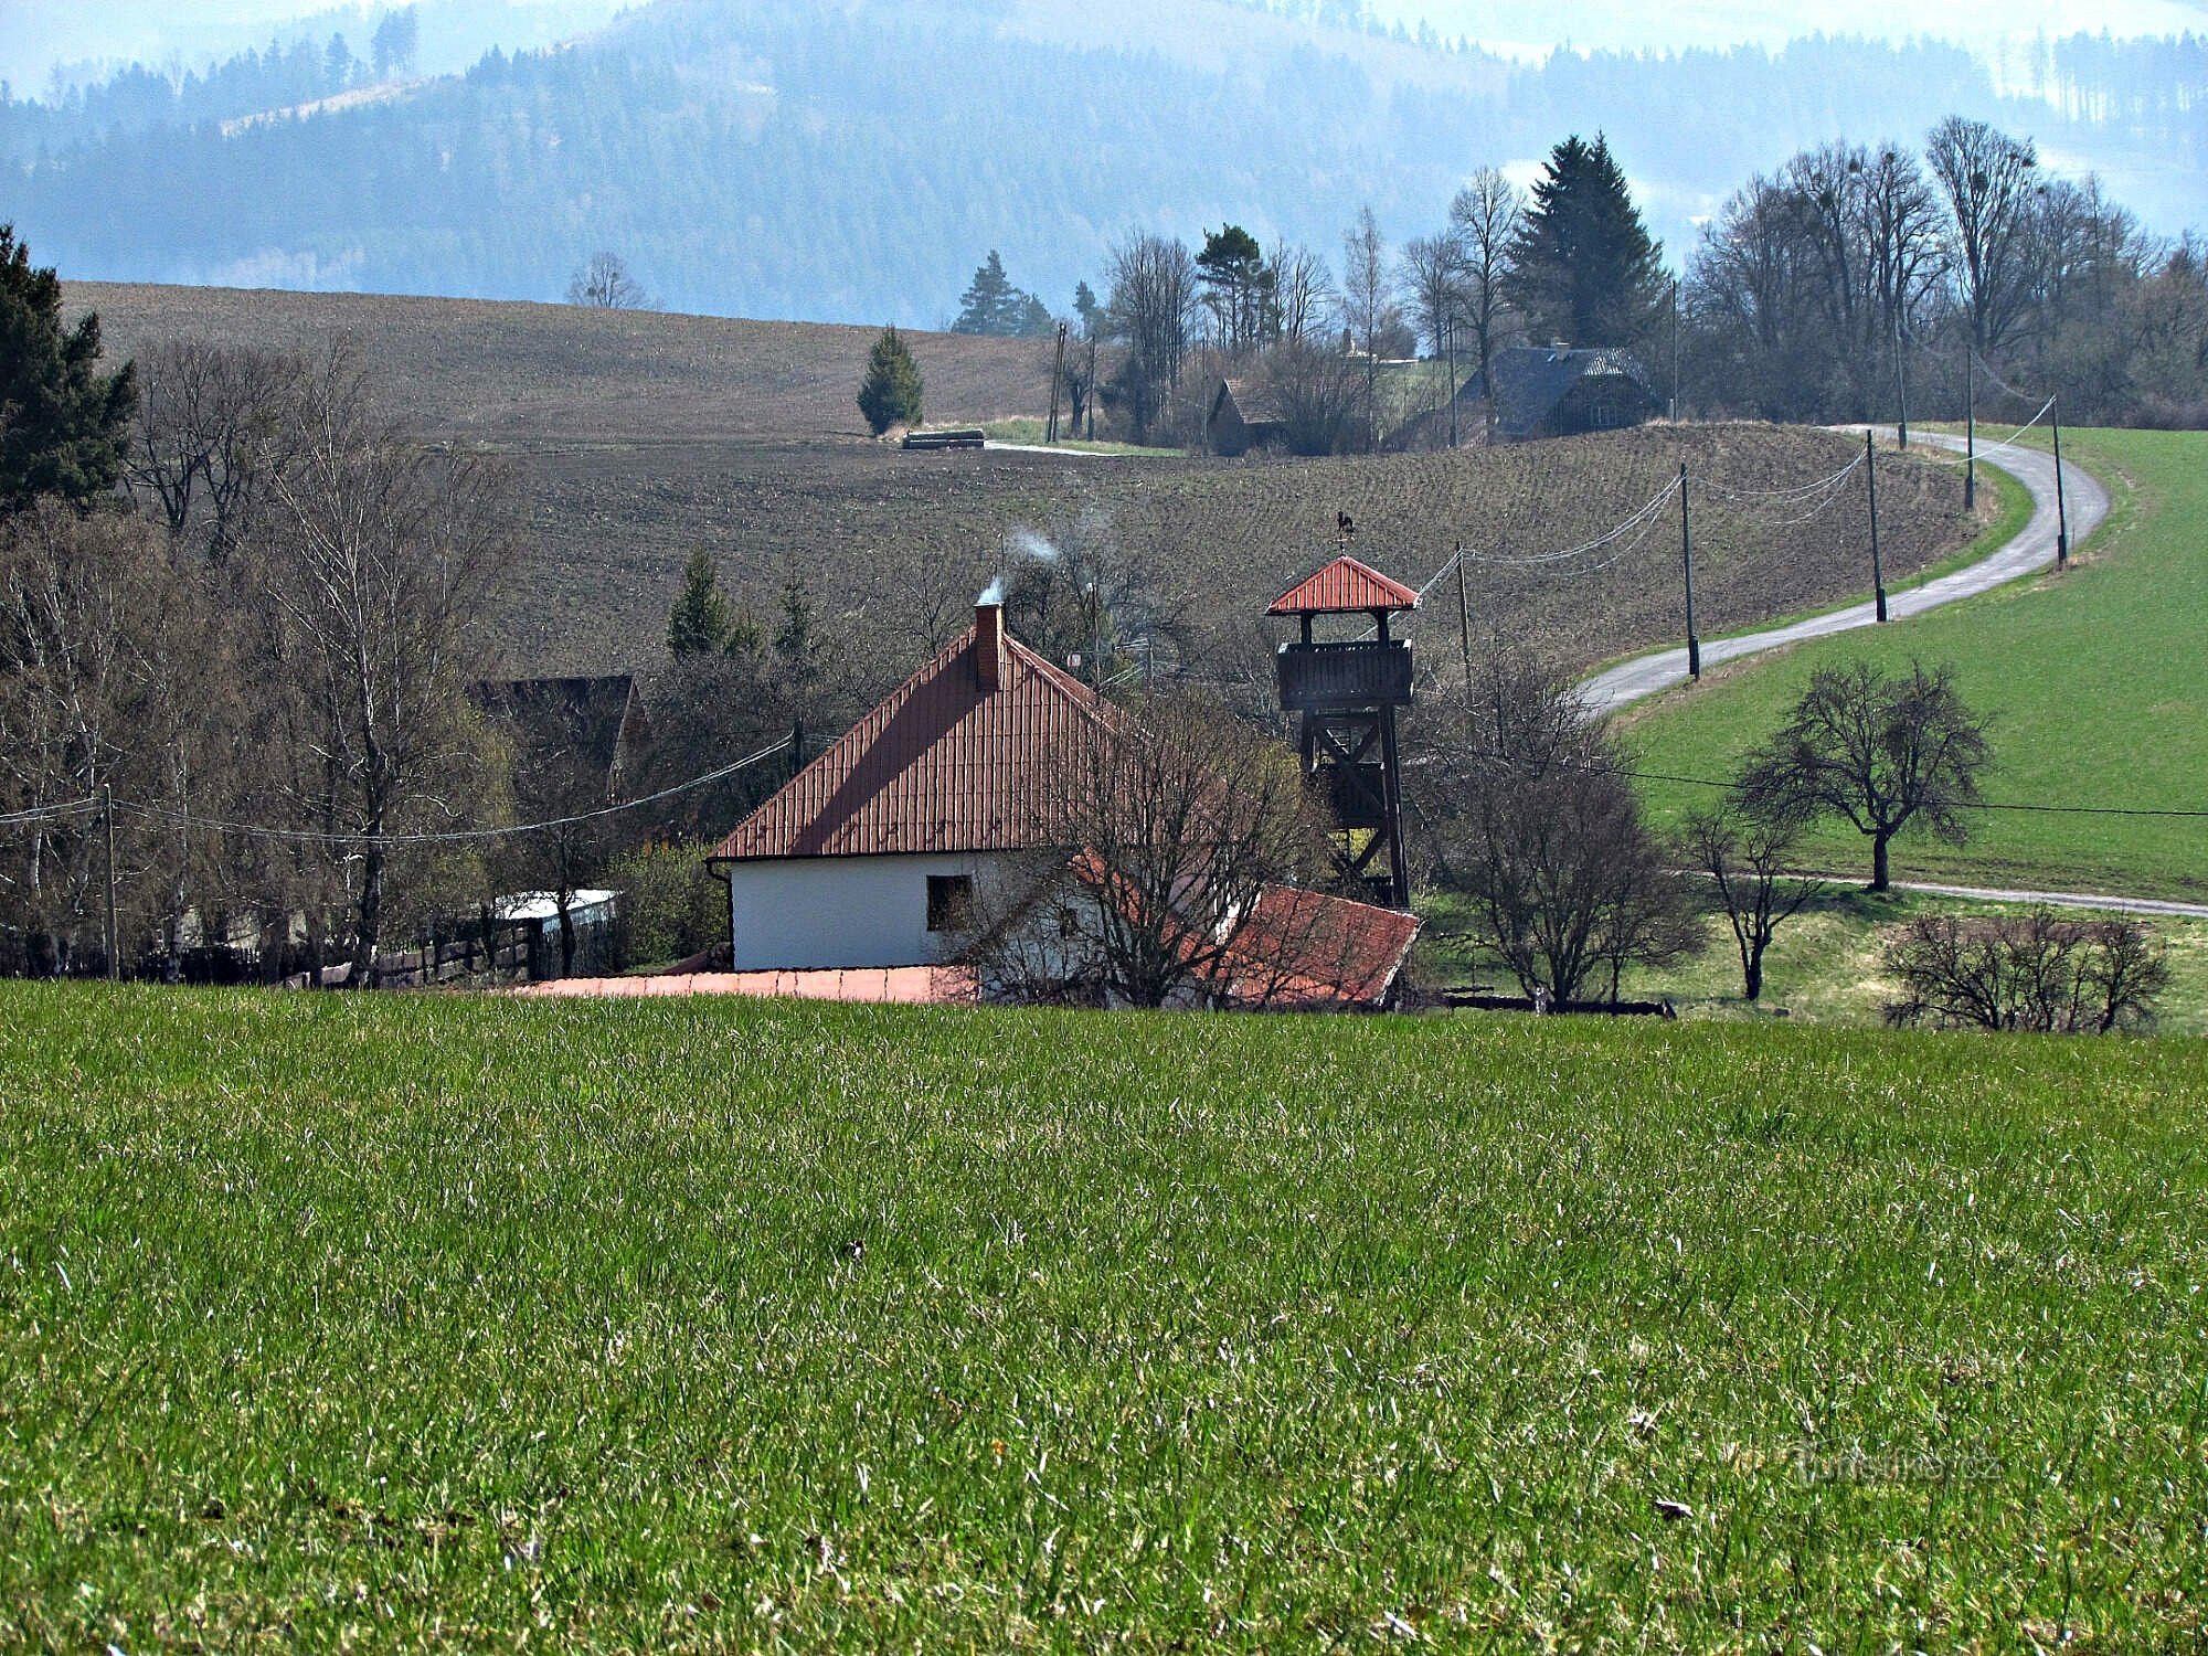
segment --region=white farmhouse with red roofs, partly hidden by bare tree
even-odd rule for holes
[[[715,846],[731,972],[954,965],[978,916],[1031,925],[1044,952],[1080,938],[1095,921],[1069,903],[1095,912],[1111,881],[1047,841],[1040,799],[1064,753],[1122,720],[976,605],[963,638]],[[1267,888],[1234,934],[1228,998],[1384,1005],[1415,934],[1409,914]]]

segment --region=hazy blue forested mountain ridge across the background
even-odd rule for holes
[[[554,298],[592,247],[682,309],[938,325],[989,247],[1064,307],[1133,225],[1234,219],[1329,256],[1362,201],[1435,223],[1484,161],[1607,130],[1680,258],[1758,166],[1828,137],[1914,141],[1945,113],[2109,174],[2159,230],[2208,219],[2208,46],[2080,38],[2045,95],[1939,44],[1804,40],[1506,64],[1223,0],[1142,49],[1038,0],[958,13],[654,4],[402,95],[223,132],[325,95],[305,64],[0,106],[13,216],[64,274]],[[1175,55],[1210,31],[1201,60]],[[1223,62],[1221,62],[1223,60]],[[128,95],[124,95],[128,93]]]

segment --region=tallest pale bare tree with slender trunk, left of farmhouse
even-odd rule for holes
[[[393,835],[473,821],[484,793],[466,700],[503,576],[503,473],[424,453],[373,406],[349,347],[314,364],[298,459],[272,484],[258,596],[280,636],[269,691],[298,707],[298,819],[358,852],[353,980],[382,936]]]

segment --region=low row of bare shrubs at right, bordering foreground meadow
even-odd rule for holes
[[[1919,914],[1886,949],[1901,998],[1890,1025],[2106,1036],[2153,1022],[2166,952],[2131,919],[2071,921],[2051,907],[1963,921]]]

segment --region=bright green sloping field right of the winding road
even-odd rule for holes
[[[2069,433],[2067,433],[2069,435]],[[1784,718],[1808,673],[1855,656],[1954,662],[1994,713],[1989,799],[2208,808],[2208,437],[2076,433],[2067,457],[2115,492],[2111,521],[2069,574],[2014,583],[1932,616],[1718,669],[1627,715],[1641,764],[1724,777]],[[1649,784],[1660,824],[1707,790]],[[1846,828],[1806,852],[1868,877]],[[1954,879],[2131,896],[2208,896],[2208,819],[1985,813],[1970,846],[1894,846],[1899,879]]]

